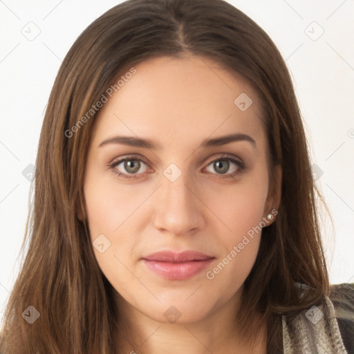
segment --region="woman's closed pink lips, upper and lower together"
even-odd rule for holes
[[[207,267],[214,257],[201,252],[157,252],[143,257],[142,261],[149,270],[156,272],[165,279],[185,280],[194,277]]]

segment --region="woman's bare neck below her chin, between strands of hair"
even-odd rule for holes
[[[157,322],[118,297],[120,330],[118,353],[129,354],[265,354],[266,327],[256,313],[252,324],[259,329],[254,342],[247,342],[237,322],[239,295],[193,323]],[[254,333],[252,333],[253,335]]]

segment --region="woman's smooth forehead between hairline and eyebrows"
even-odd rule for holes
[[[114,133],[162,145],[230,133],[263,135],[261,102],[242,75],[198,56],[158,57],[134,67],[136,73],[108,96],[95,118],[95,145]]]

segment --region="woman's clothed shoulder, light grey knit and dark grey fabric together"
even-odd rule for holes
[[[321,304],[304,308],[295,317],[283,315],[284,353],[353,354],[353,289],[353,284],[331,286]]]

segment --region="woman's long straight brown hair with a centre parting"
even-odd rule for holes
[[[263,228],[235,314],[245,333],[252,337],[248,319],[260,310],[268,324],[268,353],[279,353],[280,314],[295,315],[328,295],[316,205],[322,197],[279,50],[252,19],[223,0],[129,0],[82,32],[57,74],[39,140],[28,252],[8,299],[0,351],[114,353],[115,290],[97,265],[87,223],[78,218],[82,212],[86,220],[82,186],[96,113],[86,114],[124,71],[152,57],[185,54],[213,59],[254,87],[263,104],[270,171],[277,164],[283,171],[279,214]],[[84,115],[84,126],[68,134]],[[299,283],[307,286],[302,297]],[[40,314],[33,324],[22,316],[28,306]]]

